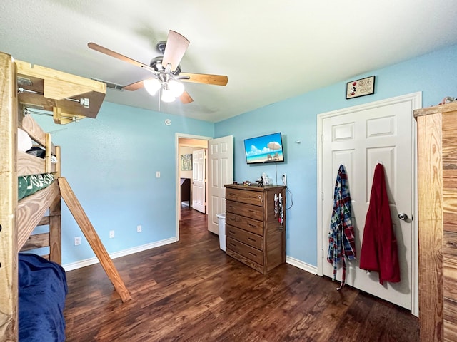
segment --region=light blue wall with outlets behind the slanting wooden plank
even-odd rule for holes
[[[51,118],[34,118],[54,131],[53,142],[62,150],[61,175],[109,253],[176,237],[175,133],[211,137],[214,124],[113,103],[104,103],[95,120],[54,125]],[[136,233],[138,224],[142,233]],[[76,236],[83,237],[80,246],[74,246]],[[62,201],[62,264],[92,257]]]

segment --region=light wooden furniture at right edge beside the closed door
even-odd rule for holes
[[[457,103],[414,116],[421,341],[457,341]]]

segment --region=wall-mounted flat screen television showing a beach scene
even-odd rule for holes
[[[284,161],[281,132],[245,139],[244,150],[248,164]]]

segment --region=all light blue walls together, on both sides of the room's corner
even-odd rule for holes
[[[40,125],[55,131],[62,146],[62,175],[69,180],[109,253],[176,236],[175,133],[235,138],[235,180],[256,180],[263,172],[275,179],[275,165],[246,165],[243,140],[281,131],[286,162],[278,163],[278,183],[287,174],[286,254],[317,264],[316,116],[331,110],[423,91],[423,106],[457,96],[457,46],[351,78],[376,76],[376,92],[346,100],[346,80],[310,93],[258,108],[212,124],[175,115],[104,103],[95,120],[54,125],[36,115]],[[164,119],[171,118],[171,126]],[[295,141],[301,140],[301,144]],[[156,171],[161,178],[155,177]],[[330,214],[330,213],[329,213]],[[143,226],[141,234],[136,225]],[[62,204],[62,263],[94,257],[73,217]],[[116,238],[109,239],[109,230]]]

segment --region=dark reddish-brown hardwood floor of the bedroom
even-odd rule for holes
[[[206,215],[182,208],[179,242],[67,272],[66,341],[418,341],[418,319],[284,264],[267,276],[226,256]]]

